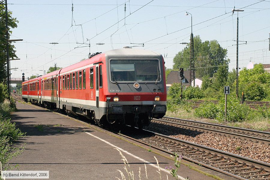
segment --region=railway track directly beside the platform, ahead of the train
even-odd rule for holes
[[[134,134],[130,134],[129,132],[121,135],[172,155],[177,153],[178,155],[182,155],[182,158],[187,161],[237,179],[270,179],[270,164],[268,163],[143,129],[138,131]]]

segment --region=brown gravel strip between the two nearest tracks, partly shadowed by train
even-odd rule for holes
[[[248,140],[238,140],[236,138],[226,137],[224,135],[202,133],[195,130],[192,131],[153,122],[151,122],[149,127],[146,127],[145,129],[247,158],[270,163],[270,146],[268,144],[259,142],[256,143]]]

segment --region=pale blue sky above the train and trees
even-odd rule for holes
[[[269,64],[269,0],[8,0],[8,9],[19,20],[10,39],[24,40],[14,43],[20,60],[10,61],[11,68],[19,68],[12,70],[11,76],[41,75],[54,63],[66,67],[87,58],[89,39],[91,53],[144,43],[144,47],[136,48],[161,53],[166,67],[171,68],[173,57],[185,47],[179,43],[190,38],[191,16],[185,16],[186,11],[192,14],[194,36],[200,35],[202,41],[216,39],[228,49],[232,70],[236,67],[236,46],[232,45],[236,44],[237,18],[237,13],[232,15],[233,7],[244,7],[238,14],[239,41],[247,44],[239,42],[239,67],[246,67],[250,60]],[[53,42],[59,44],[49,44]]]

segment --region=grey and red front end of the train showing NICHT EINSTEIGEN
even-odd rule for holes
[[[162,118],[167,110],[164,59],[161,54],[123,48],[106,52],[107,121],[137,127]]]

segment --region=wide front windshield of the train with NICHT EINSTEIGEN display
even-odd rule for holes
[[[157,59],[112,59],[110,68],[113,82],[159,82],[161,80]]]

